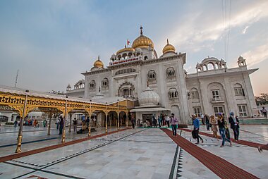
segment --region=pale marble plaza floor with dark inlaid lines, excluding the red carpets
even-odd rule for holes
[[[191,128],[191,126],[189,127]],[[240,128],[240,138],[252,142],[268,143],[268,125],[245,125]],[[35,130],[35,131],[30,131]],[[110,129],[116,130],[116,128]],[[202,126],[202,132],[207,132]],[[46,139],[47,130],[26,128],[25,141]],[[102,130],[96,132],[96,135]],[[195,144],[190,132],[178,131]],[[231,132],[232,133],[232,132]],[[67,132],[68,134],[68,132]],[[16,130],[1,128],[0,156],[14,152]],[[3,137],[4,136],[4,137]],[[233,147],[220,148],[221,140],[201,135],[204,143],[198,147],[215,154],[248,171],[256,178],[268,178],[268,151],[259,153],[256,148],[233,143]],[[51,140],[32,142],[23,149],[47,147],[60,141],[56,130],[51,130]],[[86,135],[70,133],[68,140]],[[3,139],[4,138],[4,139]],[[58,139],[59,138],[59,139]],[[15,142],[16,143],[16,142]],[[4,146],[4,147],[3,147]],[[6,147],[5,147],[6,146]],[[11,150],[8,153],[8,150]],[[219,178],[201,161],[178,146],[160,129],[138,128],[114,132],[23,156],[0,163],[0,178]]]

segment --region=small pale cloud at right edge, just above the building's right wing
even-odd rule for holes
[[[246,59],[246,63],[248,66],[253,66],[262,61],[268,60],[268,43],[256,47],[253,50],[246,51],[242,54],[242,56]]]

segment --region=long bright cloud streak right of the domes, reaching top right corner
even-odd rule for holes
[[[230,29],[247,25],[243,30],[243,32],[246,32],[250,25],[268,17],[268,1],[258,1],[258,3],[250,4],[250,6],[237,6],[236,8],[242,10],[235,11],[233,9],[231,11],[230,22],[226,23],[230,25]],[[228,25],[224,25],[221,12],[212,13],[214,13],[214,16],[209,16],[209,18],[204,18],[204,13],[201,10],[185,15],[183,19],[187,20],[172,32],[171,37],[175,39],[173,40],[174,45],[179,47],[186,45],[188,50],[193,50],[200,46],[207,47],[204,45],[206,42],[211,44],[211,42],[224,38],[228,31]],[[229,17],[226,17],[226,20],[228,21]]]

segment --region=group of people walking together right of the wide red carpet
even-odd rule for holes
[[[221,147],[224,147],[225,141],[230,142],[230,146],[231,144],[231,137],[230,137],[230,131],[228,128],[228,123],[226,122],[224,113],[219,114],[219,116],[217,116],[217,120],[214,116],[208,116],[205,115],[204,120],[202,120],[203,124],[206,124],[207,126],[207,130],[209,130],[209,128],[212,128],[212,132],[213,132],[213,137],[217,138],[217,132],[218,132],[218,128],[219,128],[219,134],[221,136]],[[202,116],[201,116],[202,119]],[[203,122],[204,121],[204,122]],[[239,119],[238,116],[234,116],[234,113],[231,112],[230,116],[229,116],[229,123],[231,125],[231,129],[233,130],[233,135],[234,135],[234,139],[238,140],[239,137]],[[203,142],[202,137],[200,137],[199,135],[199,130],[200,130],[200,121],[199,119],[193,115],[193,126],[194,126],[194,132],[195,132],[195,136],[197,137],[197,144],[199,144],[199,139]]]

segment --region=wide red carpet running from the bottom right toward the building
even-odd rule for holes
[[[172,131],[168,129],[162,129],[166,132],[171,139],[183,148],[190,155],[194,156],[197,160],[203,163],[209,170],[214,172],[220,178],[257,178],[255,175],[244,171],[241,168],[233,165],[229,161],[222,159],[221,157],[207,152],[205,149],[198,147],[197,145],[185,140],[183,137],[177,135],[173,137]]]

